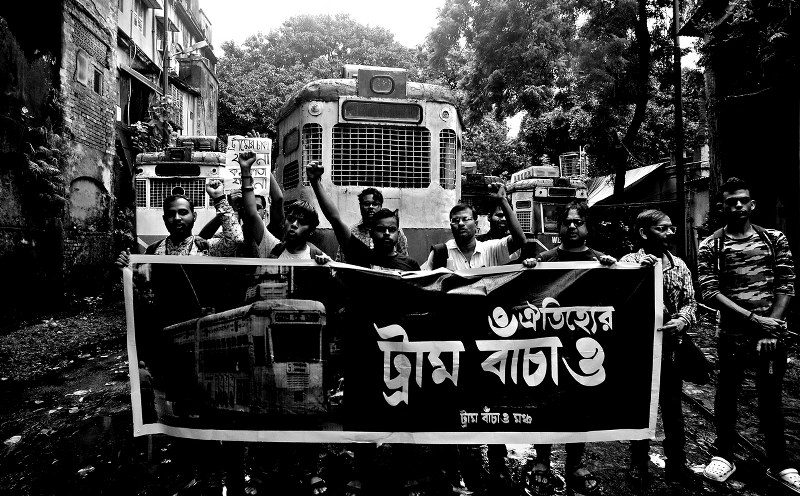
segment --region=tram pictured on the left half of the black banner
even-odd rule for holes
[[[318,301],[277,299],[171,325],[164,332],[175,346],[177,380],[167,400],[176,414],[198,409],[196,392],[217,410],[325,413],[325,322]]]

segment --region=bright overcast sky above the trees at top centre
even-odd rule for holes
[[[340,12],[361,24],[384,27],[398,42],[415,47],[436,25],[436,12],[442,5],[444,0],[200,0],[200,8],[211,21],[218,57],[223,42],[233,40],[241,45],[248,36],[269,33],[290,17]]]

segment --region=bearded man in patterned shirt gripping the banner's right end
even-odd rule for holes
[[[686,433],[681,410],[681,379],[675,352],[681,339],[688,339],[686,331],[696,322],[697,302],[689,268],[680,258],[669,252],[670,239],[675,227],[669,216],[660,210],[644,210],[636,217],[634,226],[641,249],[620,259],[642,265],[661,262],[664,281],[664,333],[661,354],[661,390],[659,404],[664,422],[664,453],[667,455],[666,478],[670,483],[686,486],[693,481],[693,472],[686,467]],[[649,483],[647,462],[650,442],[647,439],[631,441],[630,471],[632,482],[645,489]]]

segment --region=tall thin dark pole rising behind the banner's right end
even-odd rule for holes
[[[165,0],[166,1],[166,0]],[[680,212],[677,225],[678,256],[686,258],[686,240],[690,233],[686,232],[686,193],[684,191],[685,172],[683,168],[683,103],[681,88],[681,42],[678,31],[681,28],[680,0],[673,0],[672,17],[674,24],[673,71],[675,73],[675,205]]]

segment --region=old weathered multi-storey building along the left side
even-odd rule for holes
[[[131,137],[158,120],[164,94],[177,134],[217,131],[211,23],[198,0],[39,4],[35,30],[29,14],[0,6],[0,263],[24,286],[0,297],[20,301],[118,281],[141,151]]]

